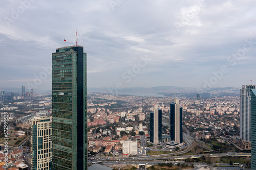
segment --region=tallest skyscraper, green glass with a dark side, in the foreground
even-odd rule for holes
[[[52,54],[53,169],[87,167],[87,70],[82,46]]]

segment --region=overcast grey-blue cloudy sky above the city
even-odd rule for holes
[[[256,1],[3,1],[0,87],[51,89],[55,49],[87,53],[88,87],[255,84]]]

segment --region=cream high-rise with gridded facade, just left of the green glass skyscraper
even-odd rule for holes
[[[31,120],[31,170],[52,169],[52,120],[50,116]]]

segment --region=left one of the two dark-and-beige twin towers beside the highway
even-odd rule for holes
[[[159,143],[162,141],[162,110],[154,105],[150,113],[150,142]]]

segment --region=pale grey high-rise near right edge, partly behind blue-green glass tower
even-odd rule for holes
[[[255,85],[242,86],[240,89],[240,138],[251,141],[251,90]]]

